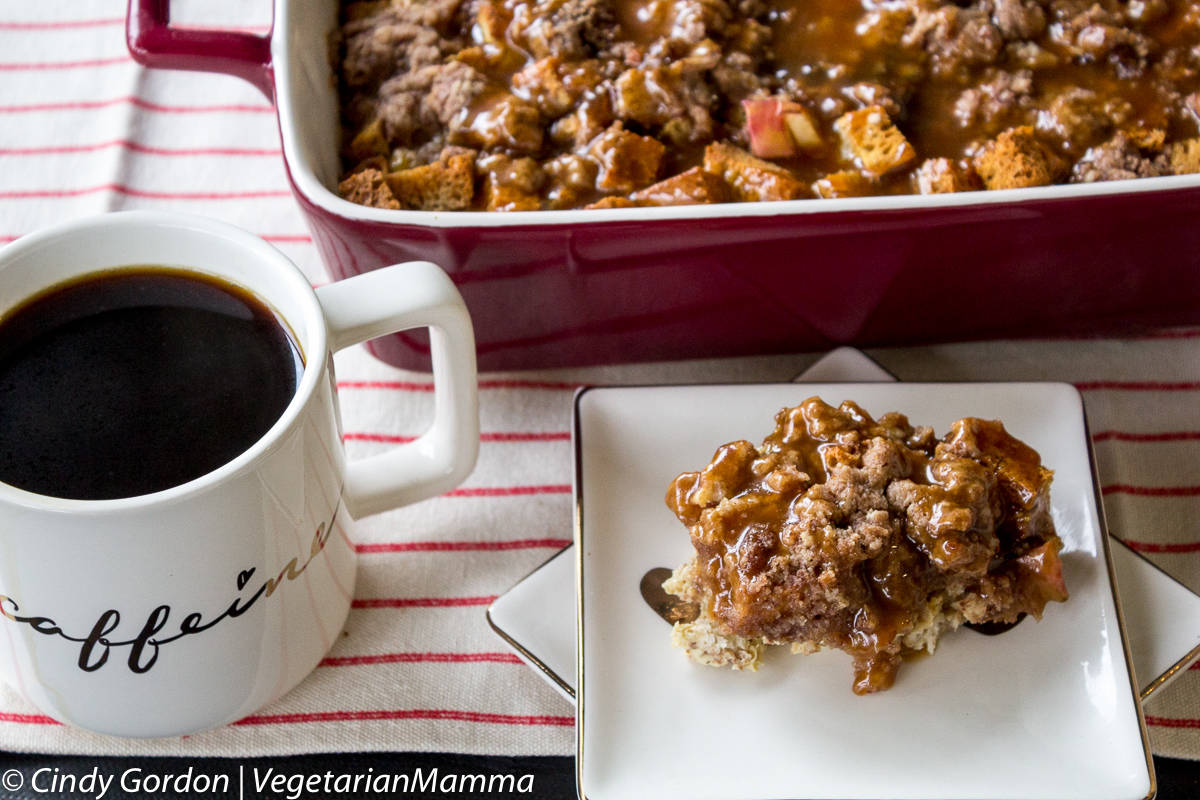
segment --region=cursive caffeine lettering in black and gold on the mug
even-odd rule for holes
[[[275,590],[284,581],[295,581],[304,571],[308,569],[322,551],[325,549],[325,542],[329,541],[329,536],[334,531],[334,518],[336,518],[337,509],[334,509],[334,517],[330,518],[328,523],[322,523],[317,528],[316,535],[312,537],[312,546],[308,548],[308,558],[304,564],[298,564],[298,559],[293,558],[278,571],[278,573],[264,581],[254,594],[248,597],[236,596],[229,606],[214,616],[212,619],[205,620],[204,614],[200,612],[192,612],[185,616],[179,622],[179,632],[167,636],[157,637],[156,634],[167,627],[167,622],[170,621],[170,606],[158,606],[150,615],[146,618],[142,626],[142,630],[132,639],[125,640],[113,640],[108,636],[115,631],[121,624],[121,613],[115,608],[109,608],[103,612],[96,620],[91,631],[86,636],[72,636],[64,631],[59,625],[49,616],[24,616],[18,614],[20,606],[16,600],[7,595],[0,595],[0,615],[4,615],[12,620],[13,622],[20,622],[23,625],[30,626],[37,633],[44,633],[46,636],[58,636],[68,642],[78,642],[82,646],[79,648],[79,668],[84,672],[94,672],[104,666],[108,661],[109,652],[113,648],[130,648],[128,666],[134,673],[148,672],[154,667],[155,662],[158,660],[158,648],[164,644],[170,644],[176,639],[181,639],[185,636],[192,636],[194,633],[203,633],[217,622],[223,621],[227,618],[236,618],[245,614],[254,603],[258,602],[260,597],[270,597],[275,594]],[[238,591],[241,593],[246,584],[250,583],[251,578],[254,576],[254,567],[248,570],[242,570],[238,573],[236,583]]]

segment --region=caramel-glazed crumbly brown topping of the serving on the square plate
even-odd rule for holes
[[[900,415],[811,398],[780,411],[760,447],[730,443],[679,475],[667,505],[691,531],[712,618],[740,637],[845,650],[868,693],[964,597],[992,625],[1066,600],[1061,542],[1034,503],[1049,482],[998,422],[960,420],[938,441]],[[1037,535],[1006,528],[1030,507],[1046,517]]]

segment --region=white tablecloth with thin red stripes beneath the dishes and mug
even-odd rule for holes
[[[176,0],[176,22],[270,24],[268,0]],[[328,275],[288,193],[275,118],[234,78],[145,71],[119,0],[0,2],[0,242],[121,209],[233,222]],[[990,342],[870,354],[904,380],[1081,385],[1112,533],[1200,589],[1200,331]],[[463,491],[361,521],[359,608],[325,666],[247,724],[127,741],[58,724],[0,687],[0,750],[227,754],[356,750],[574,752],[574,709],[484,619],[570,539],[572,389],[581,383],[790,380],[817,354],[481,375],[484,443]],[[337,356],[350,457],[420,433],[428,377]],[[356,387],[364,383],[390,387]],[[1164,488],[1165,487],[1165,488]],[[4,558],[0,554],[0,558]],[[570,609],[566,609],[570,613]],[[1182,654],[1181,654],[1182,655]],[[1147,706],[1156,752],[1200,757],[1200,672]]]

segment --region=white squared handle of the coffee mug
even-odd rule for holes
[[[346,468],[346,509],[362,517],[456,487],[479,455],[475,333],[462,295],[428,261],[409,261],[317,289],[330,350],[412,327],[428,327],[433,422],[415,441]]]

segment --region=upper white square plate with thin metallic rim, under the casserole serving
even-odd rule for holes
[[[757,673],[689,662],[646,606],[647,570],[691,545],[671,480],[811,395],[902,411],[938,434],[1000,419],[1055,470],[1070,600],[1000,637],[959,631],[895,686],[851,692],[838,651],[776,648]],[[1078,798],[1153,794],[1079,393],[1064,384],[592,389],[576,398],[578,778],[588,800]]]

